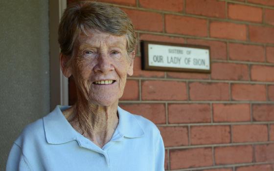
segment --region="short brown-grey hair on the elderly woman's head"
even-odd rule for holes
[[[135,50],[136,37],[132,21],[120,8],[106,3],[79,1],[68,5],[58,30],[61,52],[71,56],[81,33],[98,30],[115,36],[126,36],[127,53]]]

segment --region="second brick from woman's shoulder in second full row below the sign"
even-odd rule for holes
[[[208,123],[210,122],[209,104],[169,104],[168,122],[180,123]]]

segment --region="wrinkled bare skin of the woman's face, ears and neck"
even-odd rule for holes
[[[118,124],[118,99],[122,96],[127,75],[133,74],[135,52],[127,53],[125,36],[100,31],[80,35],[72,57],[60,54],[66,77],[74,77],[77,103],[65,110],[70,124],[99,147],[112,137]],[[110,80],[112,84],[96,84]]]

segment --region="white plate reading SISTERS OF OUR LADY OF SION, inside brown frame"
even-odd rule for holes
[[[148,65],[210,70],[209,49],[149,43]]]

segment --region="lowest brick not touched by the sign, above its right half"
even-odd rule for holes
[[[207,36],[206,25],[207,24],[205,19],[165,15],[165,31],[167,33],[205,37]]]

